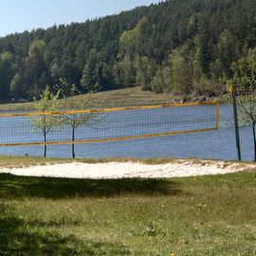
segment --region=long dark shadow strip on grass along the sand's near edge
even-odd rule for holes
[[[110,197],[125,194],[178,194],[179,184],[167,179],[65,179],[0,174],[0,198]]]

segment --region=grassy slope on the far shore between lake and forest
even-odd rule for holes
[[[70,107],[71,101],[78,101],[82,96],[75,96],[67,99],[66,107]],[[174,96],[171,94],[155,94],[150,91],[142,91],[140,87],[132,87],[126,89],[112,90],[106,92],[96,93],[94,95],[87,95],[85,99],[90,97],[97,101],[104,101],[107,105],[110,104],[112,107],[120,106],[133,106],[133,105],[154,105],[164,104],[176,101],[181,101],[181,96]],[[64,100],[60,100],[64,105]],[[0,104],[0,111],[19,111],[33,108],[33,102],[26,103],[2,103]]]

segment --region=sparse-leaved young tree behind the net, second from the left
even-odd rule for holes
[[[102,106],[100,101],[93,101],[91,98],[84,98],[76,101],[73,107],[78,110],[92,109],[95,107]],[[75,158],[75,138],[76,130],[82,126],[91,128],[97,128],[101,125],[104,120],[104,114],[102,112],[88,112],[88,113],[74,113],[74,114],[62,114],[62,124],[71,128],[72,134],[72,157]]]

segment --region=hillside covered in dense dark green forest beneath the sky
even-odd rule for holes
[[[46,84],[65,96],[133,85],[220,94],[256,47],[255,13],[255,0],[170,0],[11,34],[0,38],[0,100],[31,100]]]

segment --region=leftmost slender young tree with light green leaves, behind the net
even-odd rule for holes
[[[36,112],[54,112],[59,108],[59,93],[57,95],[51,94],[49,86],[46,86],[46,90],[40,96],[40,100],[37,101],[34,98],[34,108]],[[46,143],[47,134],[60,126],[59,116],[56,115],[39,115],[29,117],[30,124],[34,127],[35,132],[39,132],[44,137]],[[46,157],[46,144],[44,146],[44,156]]]

